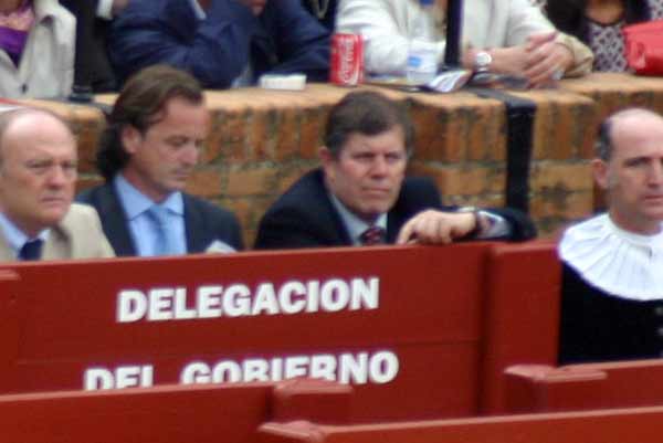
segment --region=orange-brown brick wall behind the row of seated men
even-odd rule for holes
[[[246,244],[252,244],[265,209],[304,171],[317,166],[329,107],[349,91],[313,84],[304,92],[208,92],[212,131],[188,190],[233,210]],[[501,101],[472,92],[379,91],[404,101],[411,110],[418,134],[412,173],[432,177],[446,203],[504,203],[507,139]],[[598,204],[589,168],[598,123],[625,106],[663,112],[663,81],[627,74],[592,74],[562,81],[557,89],[511,94],[536,104],[529,205],[544,236],[589,215]],[[97,97],[103,104],[113,101],[114,96]],[[101,110],[34,104],[72,122],[80,139],[80,187],[99,182],[93,161],[103,128]]]

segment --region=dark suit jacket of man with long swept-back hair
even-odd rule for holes
[[[214,240],[221,240],[235,250],[243,249],[240,224],[230,211],[183,193],[187,252],[204,252]],[[102,219],[102,228],[117,256],[136,255],[127,218],[115,189],[106,183],[83,191],[81,203],[93,205]]]

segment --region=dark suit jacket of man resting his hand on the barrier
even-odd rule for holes
[[[403,224],[425,209],[443,207],[440,193],[429,179],[407,178],[396,204],[387,214],[387,242],[393,243]],[[515,210],[492,209],[512,226],[511,240],[527,240],[536,234],[529,219]],[[255,249],[349,246],[352,242],[325,188],[322,169],[302,177],[262,218]]]

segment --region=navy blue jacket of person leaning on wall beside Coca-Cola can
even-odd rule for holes
[[[133,1],[113,22],[110,60],[124,82],[165,63],[194,75],[206,88],[227,88],[251,61],[254,76],[301,72],[326,81],[329,31],[299,0],[272,0],[255,17],[236,0],[212,0],[207,19],[190,0]]]

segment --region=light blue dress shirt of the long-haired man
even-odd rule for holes
[[[155,245],[159,240],[159,233],[155,226],[151,217],[147,211],[155,204],[159,204],[167,210],[168,229],[172,232],[176,240],[171,247],[175,254],[187,253],[187,235],[185,229],[185,202],[181,192],[173,192],[161,203],[155,203],[131,183],[129,183],[122,173],[113,179],[115,192],[126,212],[129,233],[136,246],[136,254],[139,256],[154,256]]]

